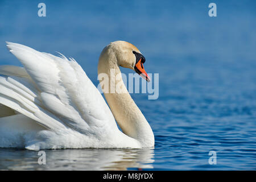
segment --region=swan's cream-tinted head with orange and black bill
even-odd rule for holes
[[[137,47],[129,42],[119,40],[110,43],[109,49],[113,51],[118,66],[133,69],[145,80],[150,81],[150,77],[143,67],[146,59]]]

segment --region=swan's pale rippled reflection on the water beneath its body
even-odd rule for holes
[[[0,149],[1,170],[126,170],[153,168],[154,149],[46,150],[46,165],[38,151]]]

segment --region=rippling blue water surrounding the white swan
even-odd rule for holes
[[[0,64],[20,65],[5,41],[74,57],[97,81],[97,60],[115,40],[137,46],[159,98],[132,94],[155,134],[143,150],[0,149],[0,169],[256,169],[256,2],[0,1]],[[125,73],[131,70],[122,69]],[[210,165],[209,151],[217,164]]]

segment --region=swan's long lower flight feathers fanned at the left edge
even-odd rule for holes
[[[27,78],[0,76],[0,103],[34,119],[46,129],[57,131],[65,128],[59,118],[44,109],[38,93]]]

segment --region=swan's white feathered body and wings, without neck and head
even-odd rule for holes
[[[0,147],[142,145],[118,130],[104,98],[74,59],[7,42],[23,64],[0,67]]]

